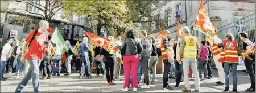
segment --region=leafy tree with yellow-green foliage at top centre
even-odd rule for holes
[[[92,17],[97,23],[97,34],[101,36],[101,28],[106,30],[122,30],[130,25],[126,1],[64,1],[64,10],[72,11],[77,16]],[[65,12],[65,16],[67,16]],[[109,32],[108,32],[109,33]],[[112,32],[110,32],[112,33]],[[120,34],[121,31],[118,31]]]

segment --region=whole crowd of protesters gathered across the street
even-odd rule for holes
[[[12,43],[13,38],[8,38],[7,43],[3,46],[1,51],[1,81],[7,80],[3,77],[3,72],[5,67],[8,72],[7,63],[9,61],[11,73],[14,73],[16,78],[25,75],[15,92],[22,92],[31,78],[34,92],[40,92],[40,79],[61,76],[61,68],[65,70],[64,76],[70,76],[72,74],[72,61],[76,63],[76,69],[80,73],[79,77],[88,79],[92,78],[90,69],[93,68],[93,62],[95,62],[95,77],[100,77],[100,73],[102,73],[102,76],[106,77],[106,85],[108,86],[117,84],[114,81],[120,78],[118,76],[119,68],[121,61],[123,61],[125,82],[122,90],[127,92],[128,88],[132,87],[135,92],[138,87],[150,88],[150,85],[154,85],[159,56],[162,56],[164,64],[163,90],[173,90],[169,86],[168,79],[176,79],[175,88],[179,88],[180,82],[184,82],[185,87],[182,91],[191,92],[189,79],[194,78],[194,91],[199,92],[199,81],[213,78],[212,63],[214,63],[220,78],[220,81],[216,81],[215,84],[225,85],[224,91],[228,91],[231,70],[233,76],[232,91],[237,92],[238,44],[230,33],[226,34],[226,40],[222,43],[213,42],[211,44],[209,41],[201,41],[201,45],[199,45],[197,39],[191,36],[188,27],[181,29],[184,34],[178,41],[172,39],[170,31],[165,30],[162,40],[164,47],[157,48],[155,37],[148,38],[146,30],[140,30],[139,33],[136,33],[133,27],[127,27],[125,29],[126,36],[123,40],[120,36],[108,37],[111,41],[115,41],[115,47],[120,54],[110,54],[101,46],[89,47],[90,40],[87,37],[83,38],[80,46],[75,50],[76,52],[73,50],[74,46],[69,41],[65,41],[68,50],[63,54],[56,51],[60,50],[59,46],[49,41],[52,32],[48,28],[49,23],[46,20],[41,20],[39,29],[32,30],[26,39],[21,39],[20,43],[19,41]],[[42,34],[45,34],[46,38],[38,38]],[[247,39],[246,32],[241,32],[238,35],[243,41],[242,59],[245,61],[245,67],[251,79],[251,87],[245,91],[255,91],[255,46],[253,42]],[[99,56],[102,59],[98,59]],[[65,66],[62,65],[63,63]],[[40,71],[42,71],[41,78],[39,78]],[[150,77],[151,71],[152,78]],[[142,76],[144,77],[142,78]],[[140,82],[141,80],[142,82]]]

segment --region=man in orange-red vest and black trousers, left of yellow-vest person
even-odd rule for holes
[[[162,42],[162,46],[164,46],[164,48],[161,48],[163,63],[164,63],[163,90],[173,90],[173,88],[169,86],[169,82],[168,82],[168,79],[169,79],[168,74],[170,72],[170,67],[173,59],[169,51],[170,48],[168,47],[169,46],[168,39],[170,38],[170,35],[171,35],[171,32],[169,30],[164,31],[164,38]]]

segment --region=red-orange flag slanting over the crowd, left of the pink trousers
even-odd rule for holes
[[[117,48],[114,47],[115,42],[110,41],[110,39],[106,39],[101,36],[97,36],[90,32],[85,32],[87,36],[90,38],[94,46],[100,46],[108,51],[110,54],[119,54]]]

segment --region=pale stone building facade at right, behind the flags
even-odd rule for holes
[[[164,2],[164,1],[163,1]],[[218,30],[224,29],[221,26],[225,26],[231,23],[239,23],[236,21],[240,21],[244,19],[243,17],[250,16],[250,19],[247,18],[245,20],[251,20],[250,23],[245,24],[236,24],[233,26],[237,32],[245,31],[245,29],[255,29],[255,1],[209,1],[203,0],[203,5],[205,10],[208,13],[210,20],[216,22],[216,28]],[[181,24],[182,27],[188,26],[191,28],[195,23],[197,11],[199,10],[200,1],[193,0],[185,0],[185,1],[168,1],[156,7],[157,9],[154,11],[154,15],[163,14],[164,16],[168,16],[168,21],[164,24],[165,30],[171,31],[171,38],[177,39],[177,21]],[[180,17],[176,18],[176,15],[179,14]],[[254,19],[253,19],[254,16]],[[254,21],[252,21],[254,20]],[[243,21],[245,23],[245,21]],[[250,26],[249,26],[250,25]],[[155,30],[151,33],[151,36],[156,36],[160,30],[156,28],[155,24],[151,25],[152,29]],[[229,28],[228,26],[225,28]],[[222,31],[222,30],[221,30]],[[224,33],[224,30],[223,32]],[[235,34],[235,32],[233,32]],[[193,31],[193,35],[197,37],[198,41],[204,40],[205,35],[201,32]],[[223,37],[223,36],[222,36]],[[221,38],[222,38],[221,37]],[[223,39],[223,38],[222,38]],[[255,42],[255,39],[254,39]]]

